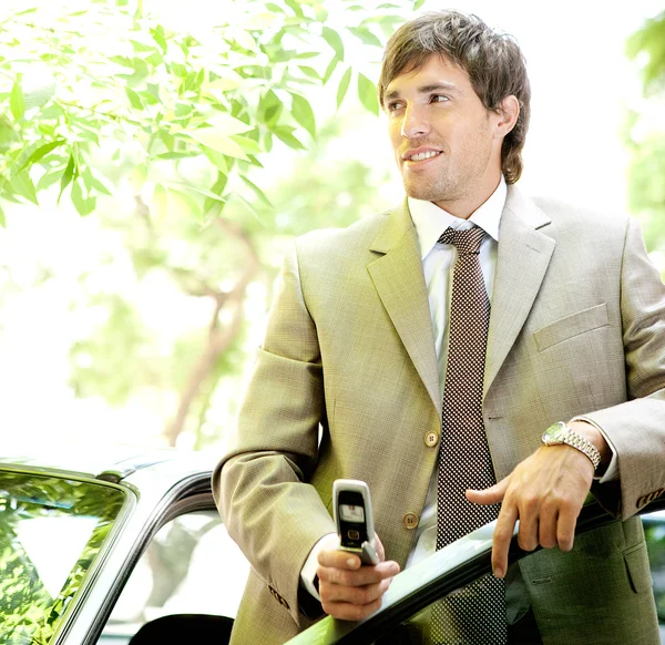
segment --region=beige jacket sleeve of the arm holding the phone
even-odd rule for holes
[[[325,416],[316,326],[294,247],[285,258],[235,433],[213,474],[213,492],[228,533],[298,624],[300,570],[316,542],[336,531],[307,483]]]

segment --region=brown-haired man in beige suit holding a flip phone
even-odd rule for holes
[[[379,98],[408,198],[296,240],[214,474],[253,565],[233,643],[369,615],[499,504],[494,576],[441,605],[461,635],[432,617],[434,641],[658,643],[633,515],[665,487],[665,289],[636,225],[514,186],[529,80],[475,17],[402,25]],[[370,487],[376,566],[335,549],[338,478]],[[621,521],[573,543],[590,489]],[[509,572],[516,520],[545,549]]]

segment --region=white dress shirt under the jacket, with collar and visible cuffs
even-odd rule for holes
[[[446,361],[448,359],[448,322],[452,291],[451,269],[457,259],[457,249],[450,244],[438,244],[437,240],[448,227],[452,227],[457,231],[464,231],[472,228],[473,226],[480,226],[485,232],[485,236],[480,245],[479,260],[491,303],[494,273],[497,269],[499,224],[501,222],[503,206],[505,205],[507,194],[508,188],[505,180],[501,176],[497,190],[490,195],[488,201],[484,202],[471,217],[469,217],[469,219],[461,219],[460,217],[450,215],[432,202],[413,199],[411,197],[408,198],[409,212],[418,234],[422,270],[424,273],[424,283],[427,285],[430,315],[432,318],[437,362],[439,366],[439,393],[441,400],[443,399]],[[573,420],[576,419],[583,418],[580,417]],[[598,428],[598,430],[601,429]],[[607,438],[605,437],[605,439]],[[610,443],[608,440],[607,442]],[[601,479],[601,482],[615,479],[618,474],[615,451],[611,443],[610,448],[612,450],[612,462],[604,477]],[[424,509],[422,510],[418,523],[416,546],[409,554],[407,567],[420,562],[422,559],[432,554],[437,549],[437,480],[438,470],[434,469],[430,480]],[[305,566],[300,572],[300,580],[304,586],[317,598],[319,596],[314,586],[317,555],[321,550],[335,549],[338,544],[339,539],[335,533],[321,538],[309,553]]]

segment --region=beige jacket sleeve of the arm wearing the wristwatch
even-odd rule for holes
[[[618,459],[618,480],[592,492],[625,520],[665,492],[665,287],[632,219],[620,288],[627,401],[585,417],[603,429]]]

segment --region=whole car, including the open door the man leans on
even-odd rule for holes
[[[0,458],[0,641],[227,642],[249,564],[215,509],[215,461],[209,453],[127,446],[29,447]],[[657,500],[643,515],[661,621],[663,508]],[[591,504],[579,530],[608,521]],[[290,643],[410,643],[409,626],[432,602],[490,571],[492,529],[400,573],[368,620],[327,617]],[[511,561],[525,555],[513,543]]]

